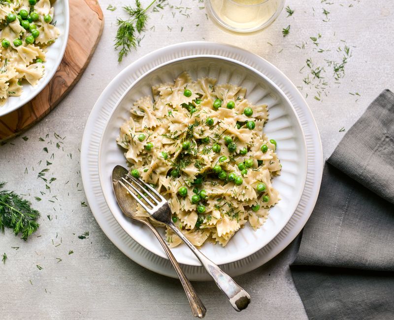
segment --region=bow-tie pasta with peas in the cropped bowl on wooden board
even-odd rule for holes
[[[0,1],[0,106],[43,77],[47,47],[60,35],[53,18],[49,0]]]

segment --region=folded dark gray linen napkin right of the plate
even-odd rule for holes
[[[310,319],[394,319],[394,94],[346,133],[323,172],[291,271]]]

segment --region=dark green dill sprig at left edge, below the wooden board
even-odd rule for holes
[[[0,182],[0,188],[4,186]],[[31,203],[24,200],[20,195],[12,191],[0,191],[0,231],[4,233],[4,228],[11,228],[17,236],[22,233],[22,239],[32,235],[37,230],[39,224],[37,219],[40,213],[32,209]]]

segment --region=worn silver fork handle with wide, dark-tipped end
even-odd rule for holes
[[[204,256],[186,236],[175,226],[170,223],[168,226],[182,239],[182,241],[192,250],[192,252],[200,260],[209,275],[213,278],[216,285],[223,291],[230,301],[231,306],[236,311],[246,309],[250,302],[250,295],[243,288],[238,286],[234,280],[225,272],[223,272],[215,263]]]

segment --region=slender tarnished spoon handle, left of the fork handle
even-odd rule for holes
[[[190,283],[190,281],[188,280],[188,278],[186,278],[186,275],[183,273],[181,266],[179,265],[178,261],[175,259],[171,250],[169,250],[164,239],[162,238],[160,233],[156,230],[156,228],[150,223],[150,221],[146,220],[146,221],[141,221],[141,222],[144,223],[146,226],[148,226],[153,231],[153,233],[155,234],[155,236],[159,240],[160,244],[162,245],[165,253],[167,254],[170,262],[172,263],[172,265],[175,269],[175,272],[178,275],[179,280],[181,281],[182,287],[186,292],[186,296],[189,300],[189,304],[190,304],[190,308],[192,309],[193,316],[200,318],[200,319],[204,318],[205,313],[206,313],[205,306],[201,302],[200,298],[197,295],[196,290],[193,288],[193,286]]]

